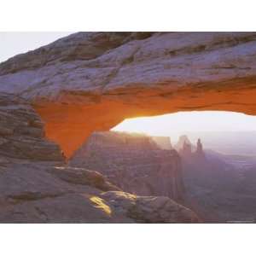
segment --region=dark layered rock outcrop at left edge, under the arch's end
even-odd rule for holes
[[[0,157],[64,160],[61,149],[44,138],[44,123],[25,100],[0,94]]]

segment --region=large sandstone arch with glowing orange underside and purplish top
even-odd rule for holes
[[[256,32],[79,32],[0,64],[71,156],[92,131],[181,110],[256,114]]]

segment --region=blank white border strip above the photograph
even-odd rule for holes
[[[0,0],[0,31],[255,31],[253,0]]]

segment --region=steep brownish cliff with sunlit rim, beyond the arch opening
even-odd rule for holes
[[[181,160],[175,150],[161,149],[153,137],[95,132],[73,154],[69,164],[97,170],[126,192],[183,201]]]

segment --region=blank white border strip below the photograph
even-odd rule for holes
[[[248,224],[2,224],[0,241],[4,256],[241,256],[255,253],[253,231]]]

